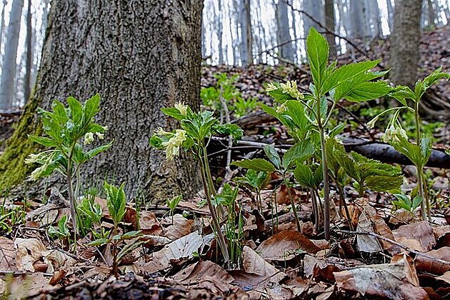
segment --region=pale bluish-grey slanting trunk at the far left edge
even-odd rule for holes
[[[14,0],[9,14],[6,33],[5,52],[0,79],[0,109],[11,109],[14,98],[14,79],[16,79],[17,46],[19,46],[20,19],[24,0]]]

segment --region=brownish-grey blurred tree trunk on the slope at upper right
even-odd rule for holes
[[[421,1],[397,0],[391,34],[391,72],[394,84],[414,86],[419,65]]]

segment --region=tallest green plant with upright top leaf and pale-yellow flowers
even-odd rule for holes
[[[329,131],[329,120],[341,99],[353,102],[368,101],[386,95],[391,88],[384,81],[374,81],[386,71],[369,71],[378,63],[363,61],[336,67],[336,61],[328,64],[329,45],[316,29],[311,28],[306,39],[306,53],[311,69],[312,82],[309,93],[301,94],[295,81],[286,84],[268,84],[266,91],[280,104],[276,109],[261,107],[285,124],[294,139],[304,139],[319,134],[320,159],[324,180],[324,231],[329,239],[329,176],[326,139],[342,126]],[[328,107],[328,103],[331,107]],[[289,114],[285,114],[289,111]],[[339,128],[340,127],[340,128]]]

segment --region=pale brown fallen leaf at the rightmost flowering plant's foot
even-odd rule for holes
[[[400,226],[392,234],[395,241],[416,251],[428,252],[436,245],[433,228],[428,221]]]

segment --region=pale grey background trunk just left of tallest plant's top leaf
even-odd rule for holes
[[[276,15],[276,42],[279,45],[280,56],[283,59],[294,61],[291,34],[289,33],[289,19],[286,1],[279,0],[275,6]]]

